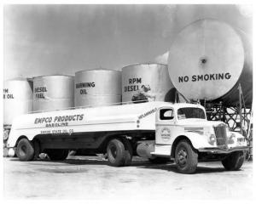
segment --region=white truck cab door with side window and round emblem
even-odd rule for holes
[[[170,107],[162,107],[155,115],[155,144],[171,144],[174,127],[174,111]]]

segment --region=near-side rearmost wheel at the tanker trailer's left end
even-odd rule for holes
[[[34,147],[28,139],[20,139],[16,155],[19,157],[20,161],[32,161],[34,157]]]

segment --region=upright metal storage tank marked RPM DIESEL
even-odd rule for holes
[[[122,69],[122,101],[171,101],[176,89],[168,74],[167,65],[138,64]]]

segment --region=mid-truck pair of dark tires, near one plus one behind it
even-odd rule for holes
[[[131,164],[132,149],[129,141],[112,139],[107,147],[108,164],[113,167],[124,167]]]

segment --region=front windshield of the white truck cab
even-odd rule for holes
[[[178,120],[188,119],[188,118],[200,118],[206,119],[205,112],[201,108],[180,108],[177,110]]]

